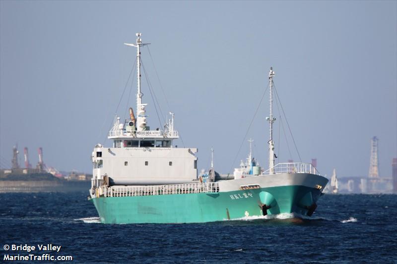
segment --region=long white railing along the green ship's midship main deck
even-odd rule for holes
[[[96,196],[127,197],[217,192],[219,192],[219,184],[217,182],[207,182],[148,186],[100,186],[96,192]]]

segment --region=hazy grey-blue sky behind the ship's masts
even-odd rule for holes
[[[366,176],[377,136],[380,174],[391,175],[397,1],[1,0],[0,30],[1,167],[18,143],[33,165],[43,147],[47,165],[90,172],[94,145],[110,145],[106,133],[135,60],[123,43],[141,32],[166,93],[167,100],[144,48],[162,112],[173,111],[184,145],[199,148],[199,169],[209,166],[211,146],[221,173],[247,157],[247,142],[238,150],[273,66],[303,161],[317,158],[322,174],[336,168],[339,176]],[[119,107],[122,118],[127,106],[135,109],[135,83]],[[155,128],[145,77],[142,83]],[[268,111],[266,93],[247,136],[265,167]],[[278,143],[279,120],[274,127],[278,162],[299,160],[288,134],[292,157],[284,136]]]

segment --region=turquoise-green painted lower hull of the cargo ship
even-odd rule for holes
[[[264,214],[304,215],[320,190],[289,185],[219,193],[93,198],[102,223],[197,223]],[[263,209],[264,205],[266,208]]]

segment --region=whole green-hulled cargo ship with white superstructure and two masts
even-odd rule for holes
[[[141,92],[141,34],[136,43],[136,117],[115,116],[108,139],[112,147],[97,144],[91,158],[90,195],[102,223],[197,223],[293,213],[311,216],[328,179],[311,163],[274,164],[272,86],[270,68],[269,168],[237,173],[217,180],[214,171],[203,182],[198,177],[197,148],[177,148],[174,114],[164,128],[151,130]],[[211,172],[211,170],[210,170]]]

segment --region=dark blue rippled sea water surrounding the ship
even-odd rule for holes
[[[116,225],[99,222],[87,194],[0,194],[0,262],[47,254],[72,263],[397,263],[397,195],[325,195],[312,217]]]

